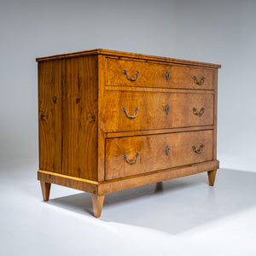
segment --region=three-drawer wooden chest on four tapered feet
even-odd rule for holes
[[[38,58],[39,171],[91,193],[207,172],[218,160],[219,65],[107,49]]]

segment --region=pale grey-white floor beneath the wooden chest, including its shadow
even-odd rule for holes
[[[201,173],[106,195],[52,185],[42,201],[36,160],[0,163],[1,255],[256,255],[256,173]],[[173,254],[174,253],[174,254]]]

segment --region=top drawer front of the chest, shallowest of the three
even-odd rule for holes
[[[213,70],[107,59],[107,85],[213,90]]]

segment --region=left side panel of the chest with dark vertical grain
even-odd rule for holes
[[[39,168],[97,180],[97,56],[38,62]]]

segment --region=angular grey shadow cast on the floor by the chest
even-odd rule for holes
[[[208,186],[205,172],[162,186],[154,183],[125,189],[106,195],[99,220],[177,234],[255,207],[255,184],[255,172],[221,169],[214,187]],[[89,193],[52,199],[49,204],[92,215]]]

